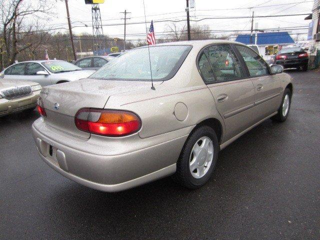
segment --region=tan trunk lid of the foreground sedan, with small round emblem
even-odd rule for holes
[[[79,109],[103,108],[110,95],[146,86],[149,83],[141,81],[81,79],[43,87],[40,97],[46,112],[44,121],[64,132],[89,138],[89,133],[77,129],[74,124]]]

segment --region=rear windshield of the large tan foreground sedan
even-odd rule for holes
[[[172,78],[191,50],[190,45],[141,47],[109,61],[89,78],[105,80],[163,81]],[[151,69],[150,69],[151,65]]]

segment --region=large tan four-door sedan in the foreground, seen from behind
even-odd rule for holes
[[[32,132],[50,167],[103,191],[171,174],[196,188],[220,149],[288,116],[290,76],[244,44],[170,42],[149,54],[132,49],[87,79],[42,89]]]

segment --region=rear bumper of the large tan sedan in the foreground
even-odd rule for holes
[[[85,186],[114,192],[173,174],[189,129],[144,139],[137,134],[119,140],[84,139],[49,127],[39,118],[32,134],[40,157],[55,171]]]

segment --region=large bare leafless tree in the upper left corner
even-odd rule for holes
[[[44,26],[39,21],[47,19],[52,13],[50,2],[51,0],[4,0],[0,5],[1,69],[12,64],[19,53],[45,41],[45,37],[30,36],[43,31]]]

